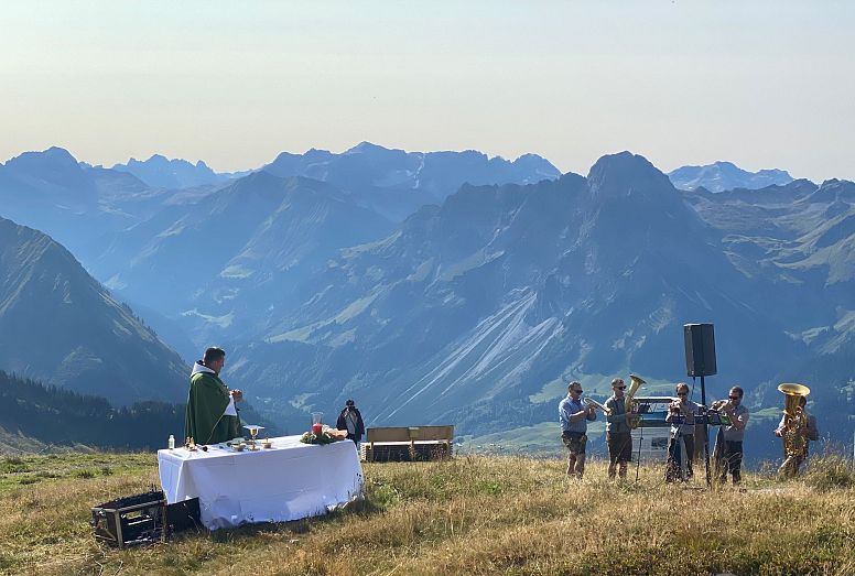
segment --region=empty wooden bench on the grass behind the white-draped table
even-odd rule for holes
[[[452,457],[454,426],[368,428],[360,446],[366,461],[441,460]]]

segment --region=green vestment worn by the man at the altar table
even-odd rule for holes
[[[190,378],[184,436],[196,444],[217,444],[240,436],[240,419],[224,414],[229,390],[214,372],[195,372]]]

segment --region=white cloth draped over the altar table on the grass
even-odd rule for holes
[[[273,447],[207,452],[158,450],[169,503],[198,497],[209,530],[320,515],[362,493],[362,467],[350,441],[310,445],[300,436],[271,438]]]

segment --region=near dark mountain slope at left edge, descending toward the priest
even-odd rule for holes
[[[121,404],[186,396],[175,352],[62,246],[3,218],[0,367]]]

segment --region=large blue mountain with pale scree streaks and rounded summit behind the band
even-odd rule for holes
[[[359,396],[383,423],[473,431],[509,403],[500,425],[512,426],[551,420],[553,402],[527,399],[572,376],[680,379],[682,325],[714,320],[722,376],[759,382],[807,347],[758,312],[757,284],[722,239],[629,153],[587,177],[464,186],[386,239],[343,250],[263,344],[238,350],[230,376],[292,405]]]

